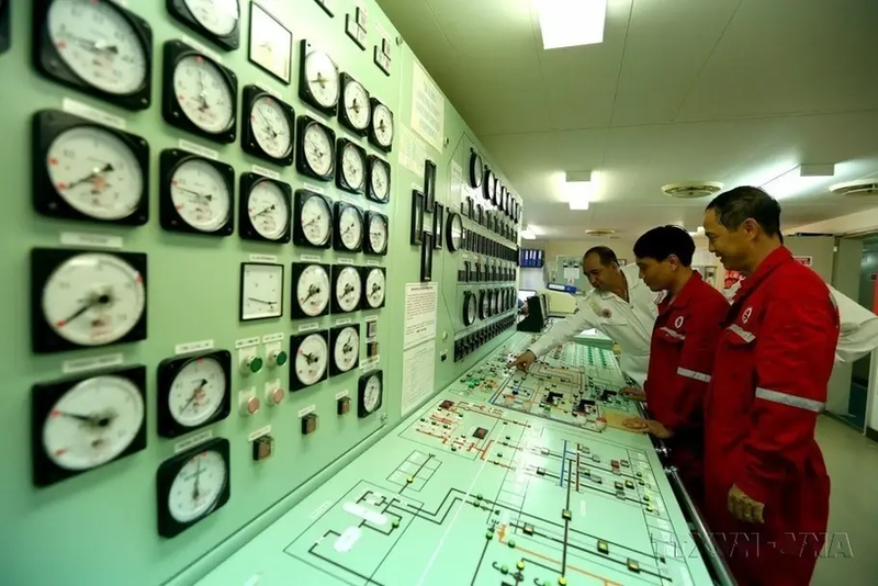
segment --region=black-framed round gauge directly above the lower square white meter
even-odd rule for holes
[[[290,241],[290,185],[257,173],[240,176],[240,236]]]

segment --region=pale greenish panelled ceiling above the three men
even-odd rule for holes
[[[680,181],[764,185],[785,229],[878,206],[828,192],[878,177],[875,0],[608,0],[604,43],[553,50],[533,0],[378,2],[540,237],[695,229],[709,200],[662,193]],[[584,170],[597,192],[574,212],[563,173]]]

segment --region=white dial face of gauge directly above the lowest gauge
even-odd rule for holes
[[[168,392],[168,408],[179,425],[195,427],[223,406],[228,381],[223,365],[212,357],[196,358],[180,369]]]

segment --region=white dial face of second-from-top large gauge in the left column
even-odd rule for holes
[[[55,138],[46,167],[64,201],[95,219],[128,217],[144,196],[144,170],[134,153],[115,134],[94,126]]]

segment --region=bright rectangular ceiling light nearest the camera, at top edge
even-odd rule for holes
[[[607,0],[534,0],[544,49],[604,42]]]

